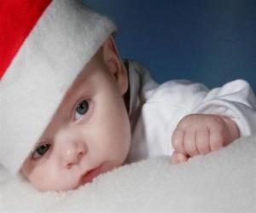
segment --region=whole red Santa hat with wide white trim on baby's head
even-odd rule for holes
[[[77,0],[0,1],[0,164],[13,175],[113,22]]]

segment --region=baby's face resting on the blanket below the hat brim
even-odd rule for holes
[[[119,83],[127,76],[109,72],[116,66],[105,66],[99,58],[80,73],[21,168],[41,191],[75,189],[123,164],[129,152],[126,89]]]

